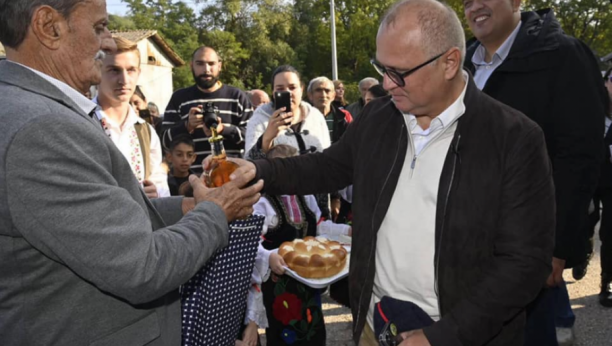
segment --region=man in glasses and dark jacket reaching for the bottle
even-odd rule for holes
[[[402,333],[402,346],[520,346],[524,309],[551,270],[554,187],[542,130],[462,70],[464,32],[447,5],[395,4],[376,43],[373,64],[391,96],[369,103],[338,142],[237,162],[267,193],[353,184],[359,345],[378,345],[375,304],[391,297],[436,321]]]

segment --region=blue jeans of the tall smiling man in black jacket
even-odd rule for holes
[[[575,320],[565,282],[544,288],[527,306],[525,346],[558,346],[555,328],[571,328]]]

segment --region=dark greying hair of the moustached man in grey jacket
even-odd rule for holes
[[[25,40],[34,11],[49,6],[66,19],[82,0],[0,0],[0,42],[17,49]]]

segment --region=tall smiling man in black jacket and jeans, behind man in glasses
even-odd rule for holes
[[[528,310],[526,345],[556,345],[555,324],[572,338],[575,317],[562,274],[586,257],[582,233],[602,159],[603,87],[591,50],[565,35],[550,9],[521,13],[520,4],[464,2],[477,39],[465,66],[482,91],[527,115],[546,137],[557,203],[555,252],[546,280],[551,289]]]

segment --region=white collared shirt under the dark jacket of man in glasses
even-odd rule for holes
[[[423,130],[404,114],[409,131],[406,159],[387,213],[376,234],[374,287],[367,322],[373,327],[375,304],[384,296],[410,301],[434,321],[440,318],[435,276],[435,225],[444,162],[465,113],[469,79],[457,99]]]

